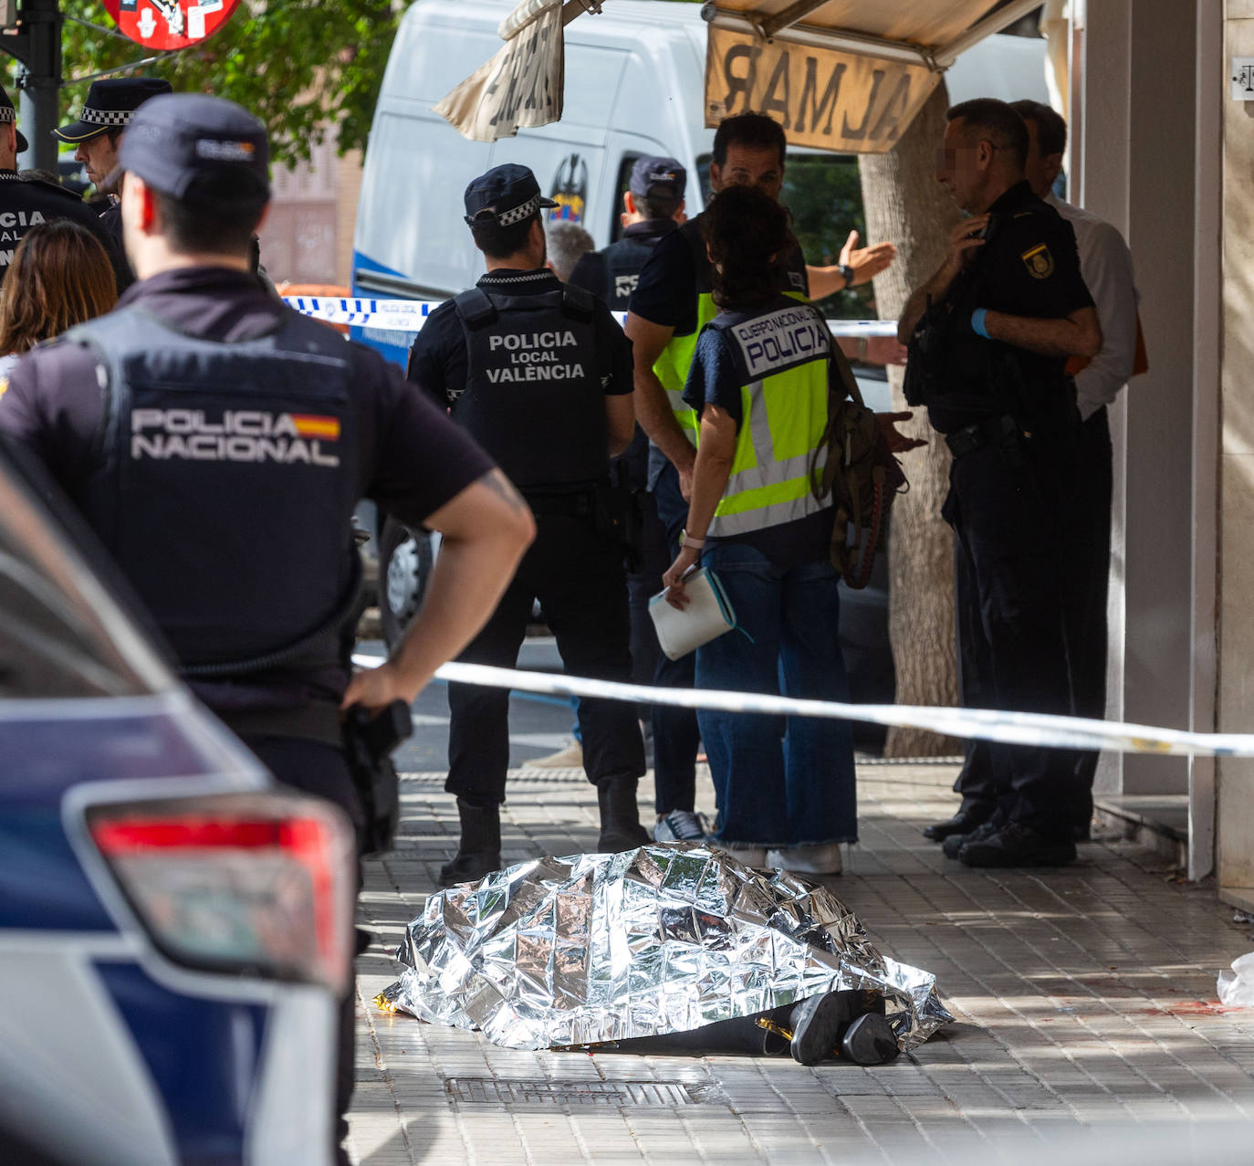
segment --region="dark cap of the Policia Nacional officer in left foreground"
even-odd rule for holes
[[[247,109],[203,93],[169,93],[145,102],[122,136],[113,186],[124,172],[173,198],[204,179],[233,179],[240,196],[270,196],[270,139]]]

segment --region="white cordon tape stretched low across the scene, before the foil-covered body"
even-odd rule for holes
[[[352,663],[377,668],[381,656],[357,653]],[[1145,724],[1088,720],[1050,713],[1003,713],[994,709],[939,708],[917,704],[846,704],[835,700],[799,700],[762,693],[732,693],[709,688],[650,688],[616,680],[592,680],[556,673],[519,671],[487,664],[449,663],[435,675],[454,684],[512,688],[557,697],[627,700],[632,704],[666,704],[672,708],[716,709],[724,713],[766,713],[772,717],[823,717],[868,724],[927,729],[944,737],[994,741],[1011,746],[1046,746],[1053,749],[1110,749],[1117,753],[1154,753],[1162,757],[1254,757],[1254,733],[1194,733]]]

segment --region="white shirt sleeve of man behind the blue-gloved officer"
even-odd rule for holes
[[[1076,377],[1080,415],[1087,420],[1127,384],[1136,360],[1136,285],[1132,255],[1109,222],[1077,226],[1080,274],[1097,305],[1101,351]]]

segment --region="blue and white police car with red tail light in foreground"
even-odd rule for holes
[[[347,822],[167,670],[0,451],[0,1162],[331,1161]]]

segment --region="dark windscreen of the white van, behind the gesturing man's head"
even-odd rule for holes
[[[710,201],[710,154],[697,158],[702,205]],[[815,267],[836,262],[845,238],[858,231],[867,246],[858,158],[853,154],[789,152],[780,201],[793,212],[793,233],[805,261]],[[882,240],[875,240],[882,242]],[[818,301],[828,319],[874,320],[875,296],[870,284],[836,292]]]

